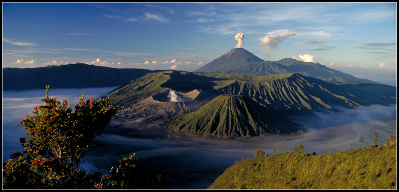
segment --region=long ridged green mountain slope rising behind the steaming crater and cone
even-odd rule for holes
[[[178,91],[207,90],[214,96],[248,96],[261,105],[281,111],[324,110],[332,109],[333,105],[358,107],[396,103],[396,88],[392,86],[335,85],[298,73],[255,75],[159,72],[133,80],[108,96],[115,105],[131,105],[168,88]]]

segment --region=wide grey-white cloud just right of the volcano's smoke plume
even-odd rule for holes
[[[297,32],[290,29],[271,31],[269,35],[260,38],[261,42],[259,44],[264,45],[267,52],[272,52],[285,37],[294,36],[296,34]]]

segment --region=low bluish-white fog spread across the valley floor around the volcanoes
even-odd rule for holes
[[[85,98],[105,96],[114,88],[50,89],[49,96],[67,99],[72,105],[81,93]],[[45,90],[6,91],[2,99],[2,161],[13,151],[22,151],[18,137],[27,136],[18,123],[31,114],[34,106],[42,104]],[[254,151],[262,149],[266,154],[292,151],[302,143],[309,153],[327,154],[329,148],[348,150],[350,145],[359,146],[359,138],[365,136],[364,146],[373,143],[373,133],[379,132],[378,142],[385,143],[397,132],[397,106],[371,106],[357,109],[340,108],[340,112],[315,112],[314,115],[294,118],[305,132],[300,135],[270,135],[250,139],[224,140],[193,138],[190,140],[157,140],[128,138],[121,135],[100,135],[96,138],[104,144],[85,157],[86,171],[100,170],[109,173],[118,160],[136,153],[143,169],[163,174],[174,182],[173,189],[206,189],[223,171],[242,159],[253,158]]]

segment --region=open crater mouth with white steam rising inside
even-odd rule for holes
[[[160,102],[189,102],[197,98],[198,95],[200,95],[200,92],[198,90],[182,92],[167,89],[166,91],[156,94],[152,97],[154,100]]]

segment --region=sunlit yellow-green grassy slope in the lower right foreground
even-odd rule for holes
[[[209,189],[397,189],[397,138],[335,154],[286,152],[244,160]]]

